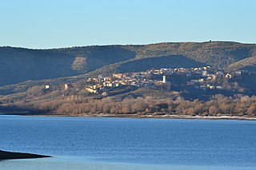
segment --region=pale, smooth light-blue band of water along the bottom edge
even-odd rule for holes
[[[170,165],[170,164],[128,164],[115,162],[87,161],[81,157],[40,158],[0,161],[0,169],[8,170],[254,170],[254,167]]]

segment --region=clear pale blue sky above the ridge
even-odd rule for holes
[[[256,43],[256,0],[0,0],[0,45]]]

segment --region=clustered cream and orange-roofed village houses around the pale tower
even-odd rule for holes
[[[170,87],[170,81],[166,77],[172,77],[178,74],[180,77],[187,77],[186,85],[195,89],[222,89],[218,85],[218,80],[234,76],[241,76],[241,72],[225,73],[222,70],[214,69],[211,66],[198,68],[167,68],[150,69],[145,72],[134,73],[114,73],[110,77],[90,77],[86,80],[85,89],[90,93],[102,94],[107,96],[111,90],[122,89],[129,86],[136,87]],[[158,77],[157,79],[152,78]],[[159,80],[160,78],[161,80]],[[154,79],[154,80],[152,80]],[[73,88],[72,84],[65,84],[62,89]],[[45,85],[45,89],[50,89],[50,85]]]

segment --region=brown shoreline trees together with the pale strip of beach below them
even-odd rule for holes
[[[166,92],[162,93],[166,94]],[[5,114],[30,116],[255,120],[256,96],[225,97],[218,94],[211,97],[209,101],[186,101],[181,97],[161,97],[160,94],[155,97],[105,97],[102,99],[70,95],[50,101],[6,105],[1,111]]]

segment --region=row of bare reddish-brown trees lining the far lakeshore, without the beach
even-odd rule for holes
[[[246,116],[256,115],[256,96],[224,97],[215,95],[210,101],[184,101],[159,99],[155,97],[138,97],[114,99],[88,99],[84,97],[69,96],[45,102],[20,103],[15,105],[18,109],[30,109],[46,113],[65,114],[170,114],[170,115],[200,115],[200,116]]]

